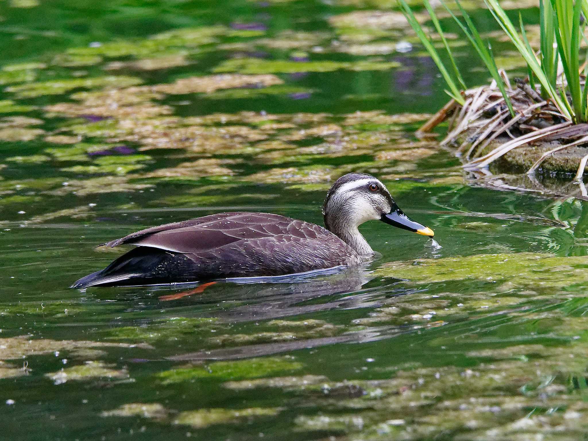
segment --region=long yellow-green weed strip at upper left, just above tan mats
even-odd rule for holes
[[[9,86],[6,91],[16,93],[16,96],[20,98],[34,98],[44,95],[62,95],[74,89],[123,88],[141,82],[141,79],[132,76],[98,76],[26,83],[19,86]]]

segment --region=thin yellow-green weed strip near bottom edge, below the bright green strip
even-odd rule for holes
[[[203,429],[215,424],[240,423],[243,419],[260,416],[278,415],[278,407],[262,408],[250,407],[249,409],[201,409],[181,412],[173,421],[174,424],[181,424]]]

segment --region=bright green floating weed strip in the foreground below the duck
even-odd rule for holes
[[[197,379],[244,380],[285,373],[302,368],[302,363],[285,357],[251,358],[248,360],[212,362],[206,366],[177,368],[157,374],[164,384]]]

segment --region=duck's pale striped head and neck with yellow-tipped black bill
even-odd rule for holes
[[[348,173],[335,181],[323,204],[323,216],[326,228],[361,255],[373,253],[358,230],[358,226],[368,220],[379,219],[431,238],[435,234],[429,227],[406,216],[386,186],[365,173]]]

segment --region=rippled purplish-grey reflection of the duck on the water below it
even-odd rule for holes
[[[296,316],[330,309],[377,308],[387,298],[415,292],[397,286],[400,279],[386,278],[377,280],[371,275],[368,265],[352,268],[330,269],[290,275],[280,278],[249,278],[219,281],[208,285],[204,290],[193,292],[195,287],[177,286],[158,287],[157,293],[166,292],[160,299],[173,303],[205,304],[213,299],[213,315],[225,323],[238,323],[256,320],[270,320]],[[169,291],[175,291],[169,293]],[[179,291],[179,292],[178,292]],[[184,295],[189,293],[188,295]],[[172,302],[170,302],[172,303]],[[235,303],[237,304],[236,306]],[[200,314],[200,313],[199,313]],[[202,316],[202,315],[199,315]],[[212,316],[212,314],[211,314]],[[176,361],[229,360],[270,355],[297,349],[316,348],[333,343],[359,343],[391,338],[409,329],[397,326],[378,326],[368,329],[350,330],[342,335],[296,339],[288,342],[270,342],[242,345],[233,348],[201,350],[168,357]]]

